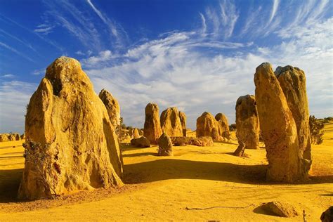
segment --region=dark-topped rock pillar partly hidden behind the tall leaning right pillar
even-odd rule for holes
[[[279,66],[275,70],[275,75],[280,82],[288,107],[292,111],[296,123],[300,155],[311,161],[311,134],[305,74],[298,67],[287,65],[285,67]]]

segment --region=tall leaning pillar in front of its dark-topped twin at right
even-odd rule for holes
[[[294,182],[308,177],[308,163],[299,152],[299,140],[285,94],[269,63],[256,68],[256,105],[266,145],[269,181]]]

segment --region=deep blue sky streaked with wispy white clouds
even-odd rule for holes
[[[195,129],[202,112],[235,121],[255,68],[306,72],[310,112],[333,114],[332,1],[1,1],[0,132],[24,131],[25,106],[61,55],[77,58],[125,124],[176,106]]]

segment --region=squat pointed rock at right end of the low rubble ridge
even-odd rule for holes
[[[197,137],[211,136],[214,141],[222,141],[221,128],[221,124],[209,112],[204,112],[197,118]]]

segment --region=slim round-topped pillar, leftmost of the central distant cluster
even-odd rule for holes
[[[148,138],[150,143],[158,144],[158,138],[161,136],[162,130],[159,122],[159,108],[156,103],[148,103],[145,107],[145,125],[143,136]]]

